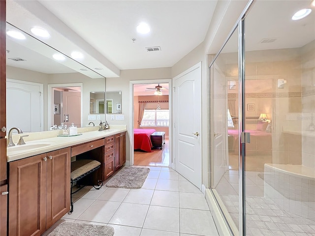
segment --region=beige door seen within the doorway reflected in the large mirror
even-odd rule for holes
[[[62,120],[67,126],[74,123],[78,128],[81,127],[81,92],[63,91],[63,112]],[[64,115],[68,116],[65,120]]]

